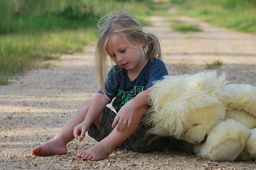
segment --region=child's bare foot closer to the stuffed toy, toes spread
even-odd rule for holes
[[[77,154],[78,158],[82,158],[83,160],[103,160],[107,159],[110,153],[112,152],[112,148],[108,148],[104,143],[98,143],[87,150],[83,150]]]

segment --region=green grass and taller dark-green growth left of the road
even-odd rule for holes
[[[95,42],[96,24],[109,12],[127,10],[142,24],[149,1],[0,0],[0,84],[13,75],[51,66],[49,59],[79,52]]]

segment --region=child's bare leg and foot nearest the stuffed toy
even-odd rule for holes
[[[123,130],[123,132],[121,132],[117,131],[117,128],[115,127],[114,130],[102,141],[87,150],[81,151],[80,153],[78,153],[77,156],[85,160],[93,161],[108,158],[114,148],[119,146],[119,144],[123,143],[124,140],[130,137],[130,135],[132,135],[137,130],[139,124],[141,123],[142,117],[144,116],[145,110],[146,107],[143,107],[137,111],[137,114],[134,114],[132,125],[130,128],[126,128]]]

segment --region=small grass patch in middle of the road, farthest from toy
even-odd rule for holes
[[[188,23],[180,22],[180,21],[174,21],[171,24],[171,29],[173,29],[175,31],[180,31],[183,33],[202,31],[201,27],[197,24],[188,24]]]

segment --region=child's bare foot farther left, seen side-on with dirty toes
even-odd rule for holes
[[[32,155],[49,156],[64,155],[67,153],[67,146],[58,139],[50,139],[46,143],[36,146],[32,150]]]

